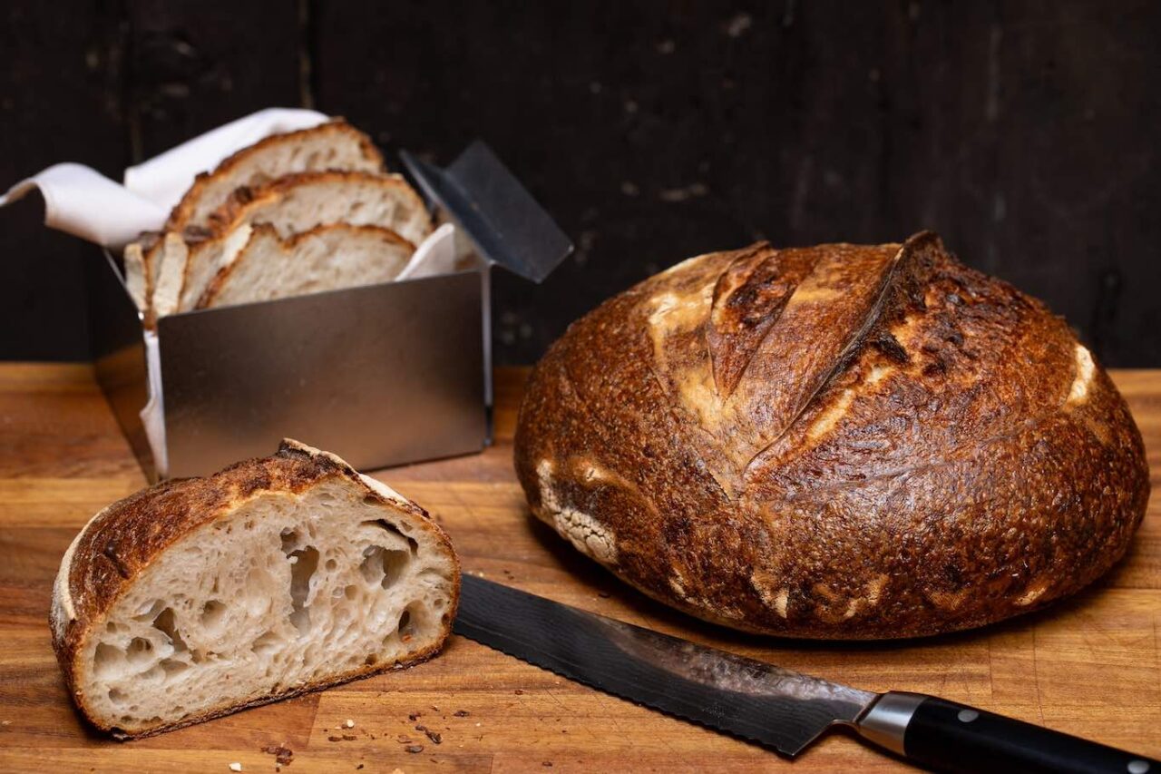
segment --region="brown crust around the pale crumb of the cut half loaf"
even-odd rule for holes
[[[179,722],[140,731],[125,731],[103,723],[79,690],[80,657],[86,639],[134,581],[179,539],[229,515],[254,496],[268,492],[300,494],[333,478],[355,483],[366,490],[370,501],[390,504],[418,517],[414,524],[445,549],[453,567],[453,588],[435,643],[404,660],[365,665],[333,678],[307,682],[245,703],[226,703]],[[65,552],[53,586],[49,623],[52,647],[65,683],[81,714],[94,726],[111,731],[118,738],[139,738],[425,661],[442,648],[450,635],[459,596],[459,558],[447,533],[427,511],[387,485],[358,473],[339,457],[286,439],[273,457],[237,463],[207,478],[163,481],[101,510],[81,529]]]

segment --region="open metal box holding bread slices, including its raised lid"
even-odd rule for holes
[[[447,169],[403,160],[467,237],[459,271],[170,315],[149,341],[120,261],[89,263],[98,381],[151,481],[266,456],[283,437],[365,470],[490,442],[491,267],[540,282],[572,245],[483,143]]]

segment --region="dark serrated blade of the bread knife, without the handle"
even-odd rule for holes
[[[463,576],[455,632],[605,693],[795,755],[875,694]]]

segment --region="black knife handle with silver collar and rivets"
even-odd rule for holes
[[[1161,761],[966,704],[892,691],[877,705],[884,700],[887,700],[884,707],[895,717],[880,719],[894,723],[901,731],[902,750],[877,737],[873,730],[875,707],[859,723],[863,736],[936,771],[1161,774]],[[908,704],[909,718],[906,717]],[[868,722],[870,733],[863,728]]]

